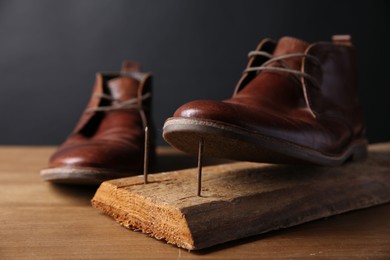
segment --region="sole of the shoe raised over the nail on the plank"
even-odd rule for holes
[[[203,138],[204,156],[240,161],[282,164],[341,165],[367,155],[367,140],[351,143],[341,154],[325,154],[278,138],[211,120],[169,118],[163,128],[164,139],[177,149],[198,153]]]

